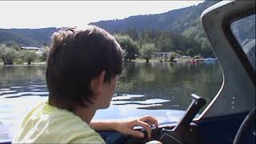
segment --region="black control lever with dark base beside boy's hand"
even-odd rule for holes
[[[177,126],[168,126],[162,128],[153,128],[152,137],[149,138],[127,138],[126,143],[146,143],[151,140],[157,140],[162,143],[170,144],[194,144],[198,143],[198,126],[193,123],[193,118],[198,114],[198,111],[206,104],[204,98],[198,97],[196,94],[191,95],[193,100],[186,110],[186,114],[178,122]],[[146,136],[146,130],[141,130]]]

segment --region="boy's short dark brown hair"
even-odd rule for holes
[[[122,49],[113,36],[97,26],[54,33],[46,62],[50,104],[70,111],[86,107],[94,98],[90,82],[103,70],[104,82],[122,73]]]

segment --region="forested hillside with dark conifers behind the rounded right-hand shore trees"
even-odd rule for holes
[[[165,14],[141,15],[123,20],[92,23],[110,32],[128,34],[139,47],[144,43],[154,43],[158,51],[180,51],[179,54],[202,54],[214,57],[211,46],[202,43],[206,38],[200,22],[200,14],[207,7],[218,1],[206,1],[198,6],[190,6],[180,10],[170,10]]]

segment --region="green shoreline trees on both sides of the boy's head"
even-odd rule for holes
[[[207,38],[192,38],[174,32],[158,30],[142,30],[138,33],[134,28],[114,34],[124,50],[124,59],[130,62],[136,58],[144,58],[146,62],[158,52],[170,52],[170,57],[164,61],[174,61],[182,55],[190,57],[214,58],[210,42]],[[42,46],[40,50],[24,50],[18,44],[0,44],[0,59],[7,64],[28,65],[31,62],[45,62],[49,47]]]

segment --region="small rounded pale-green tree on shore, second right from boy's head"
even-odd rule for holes
[[[157,49],[153,43],[146,43],[142,45],[140,52],[141,52],[142,58],[146,59],[146,62],[150,62],[150,58],[152,57],[152,54],[157,52]]]

